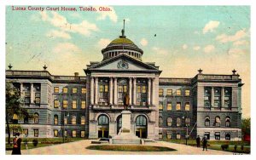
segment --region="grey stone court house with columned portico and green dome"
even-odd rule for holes
[[[131,132],[143,139],[241,140],[241,79],[230,74],[160,77],[143,49],[122,35],[102,49],[84,76],[6,70],[32,117],[14,114],[27,137],[111,138],[122,128],[121,111],[131,111]],[[154,60],[154,59],[152,59]],[[160,65],[160,64],[158,64]],[[125,103],[127,103],[125,105]],[[15,134],[18,129],[12,129]]]

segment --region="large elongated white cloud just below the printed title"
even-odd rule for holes
[[[40,12],[40,14],[42,20],[49,22],[52,26],[58,27],[61,31],[79,33],[84,36],[90,36],[92,31],[99,31],[95,24],[90,23],[87,20],[83,20],[79,24],[72,24],[67,21],[66,17],[56,12],[51,12],[51,16],[45,11]]]

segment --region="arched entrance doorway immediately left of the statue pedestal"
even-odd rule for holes
[[[98,138],[108,138],[109,120],[106,115],[101,115],[98,118]]]

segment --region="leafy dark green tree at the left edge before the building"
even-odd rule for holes
[[[23,100],[20,98],[20,90],[16,89],[13,83],[5,84],[5,123],[8,133],[8,144],[10,144],[10,128],[12,125],[9,122],[14,123],[13,117],[17,115],[18,118],[30,117],[25,108],[22,107]]]

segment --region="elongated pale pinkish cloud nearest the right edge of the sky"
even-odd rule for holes
[[[216,37],[216,40],[221,42],[221,43],[228,43],[228,42],[235,42],[240,40],[243,37],[247,36],[247,31],[246,29],[242,29],[240,31],[236,31],[235,35],[226,35],[226,34],[221,34]]]

